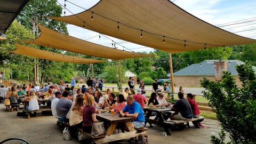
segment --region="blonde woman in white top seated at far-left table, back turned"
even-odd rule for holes
[[[36,96],[34,91],[30,91],[29,95],[30,95],[29,97],[26,97],[24,99],[24,102],[28,101],[27,110],[38,110],[39,109],[39,105],[38,105],[39,98]]]

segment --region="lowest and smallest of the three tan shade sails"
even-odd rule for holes
[[[32,47],[28,47],[25,45],[20,45],[20,44],[15,44],[15,45],[17,46],[17,50],[10,51],[11,53],[27,55],[29,57],[35,57],[35,58],[40,58],[45,60],[52,60],[52,61],[83,63],[83,64],[105,62],[102,60],[85,59],[85,58],[73,57],[70,55],[64,55],[60,53],[43,51],[43,50],[35,49]]]

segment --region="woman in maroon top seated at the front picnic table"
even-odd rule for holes
[[[94,97],[89,95],[85,101],[85,106],[83,108],[83,131],[91,133],[92,125],[98,122],[96,119],[96,109],[93,106]]]

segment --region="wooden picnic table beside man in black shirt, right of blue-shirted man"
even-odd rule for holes
[[[162,126],[164,128],[164,131],[166,132],[167,135],[171,135],[170,130],[168,129],[168,124],[164,123],[164,112],[166,111],[171,111],[172,113],[175,113],[174,111],[172,111],[171,108],[144,108],[145,111],[147,111],[147,115],[145,116],[145,125],[147,123],[150,124],[155,124],[158,126]],[[156,117],[154,119],[150,119],[149,117],[151,116],[151,114],[154,112],[157,113]]]

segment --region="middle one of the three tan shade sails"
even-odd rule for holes
[[[46,28],[37,23],[41,29],[41,35],[34,41],[21,41],[25,43],[34,43],[42,46],[49,46],[54,49],[66,50],[75,53],[81,53],[85,55],[92,55],[94,57],[121,60],[129,58],[149,57],[149,54],[139,54],[133,52],[127,52],[118,49],[112,49],[107,46],[94,44],[84,41],[69,35],[59,33],[52,29]]]

